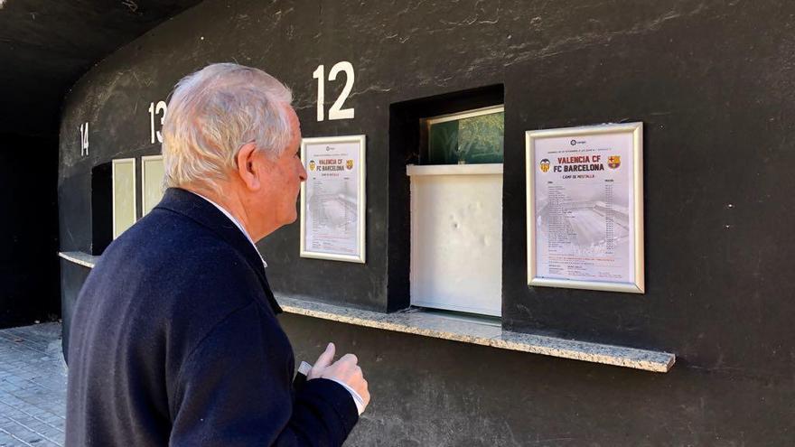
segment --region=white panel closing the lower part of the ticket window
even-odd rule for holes
[[[409,166],[411,303],[502,313],[502,164]]]

